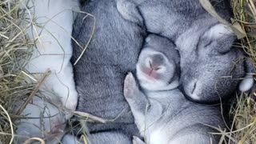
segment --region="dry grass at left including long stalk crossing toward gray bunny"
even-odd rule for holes
[[[24,70],[33,50],[36,49],[34,44],[40,41],[41,37],[40,31],[37,31],[38,38],[30,40],[26,32],[30,26],[42,28],[45,23],[38,24],[37,18],[29,12],[33,7],[23,6],[23,1],[0,0],[0,143],[15,143],[14,136],[21,137],[14,134],[16,126],[13,122],[26,118],[19,114],[22,114],[22,110],[35,95],[56,106],[59,111],[72,113],[81,119],[105,122],[105,119],[90,114],[66,110],[44,98],[40,91],[38,93],[49,71],[41,74],[42,78],[37,80],[34,74],[28,74]],[[24,9],[19,9],[21,6]],[[27,138],[25,143],[35,141],[42,143],[44,139]]]

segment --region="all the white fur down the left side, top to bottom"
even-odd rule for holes
[[[66,109],[75,110],[78,102],[78,94],[74,86],[73,68],[70,63],[72,54],[71,32],[74,22],[74,14],[71,9],[78,10],[78,0],[30,0],[22,2],[25,7],[33,6],[27,10],[28,19],[35,20],[40,26],[31,26],[31,23],[25,23],[22,26],[30,26],[26,30],[31,42],[36,41],[36,49],[32,54],[30,62],[26,65],[26,71],[30,73],[40,74],[37,79],[42,78],[42,74],[47,69],[51,70],[51,74],[46,78],[43,86],[40,87],[42,94],[55,102],[59,99],[58,106],[64,106]],[[34,22],[34,23],[35,23]],[[36,108],[34,105],[47,106],[51,115],[59,113],[58,109],[48,102],[43,102],[40,98],[33,98],[33,104],[30,103],[22,112],[22,115],[29,114],[28,117],[33,119],[21,120],[18,123],[17,134],[26,134],[27,136],[44,138],[42,130],[37,127],[44,127],[43,133],[50,133],[53,122],[61,119],[62,123],[70,118],[72,114],[62,114],[58,117],[50,118],[50,122],[41,122],[38,116],[42,113],[42,109]],[[40,117],[39,117],[40,118]],[[27,123],[28,124],[22,124]],[[60,124],[58,122],[58,124]],[[62,127],[64,129],[65,127]]]

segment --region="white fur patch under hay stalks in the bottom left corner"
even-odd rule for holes
[[[56,106],[38,97],[33,98],[22,114],[26,114],[26,118],[15,122],[18,143],[28,139],[26,136],[48,139],[52,134],[61,134],[66,127],[64,114]]]

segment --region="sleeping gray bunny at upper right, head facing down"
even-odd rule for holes
[[[118,11],[131,22],[172,40],[181,57],[181,89],[194,102],[212,103],[253,85],[254,67],[233,46],[233,32],[204,10],[198,0],[117,0]],[[210,0],[218,14],[230,21],[230,4]]]

